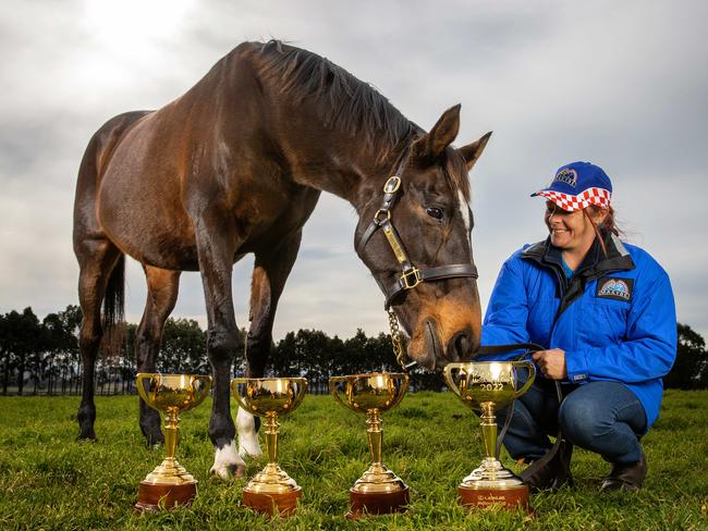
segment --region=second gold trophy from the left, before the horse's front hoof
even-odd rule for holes
[[[258,513],[290,516],[295,513],[302,489],[277,462],[278,416],[291,412],[305,397],[304,378],[235,378],[231,391],[239,405],[263,417],[268,465],[243,490],[243,503]]]

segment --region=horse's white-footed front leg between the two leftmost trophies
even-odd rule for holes
[[[231,294],[231,270],[236,240],[222,223],[198,223],[197,251],[207,307],[207,353],[213,373],[209,437],[216,456],[211,472],[222,479],[243,477],[245,464],[234,444],[236,433],[231,419],[229,388],[233,356],[239,347],[236,320]],[[210,230],[211,229],[211,230]]]

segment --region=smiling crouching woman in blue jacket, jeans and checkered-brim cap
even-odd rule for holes
[[[522,472],[535,490],[572,484],[573,444],[612,465],[602,491],[637,490],[647,473],[639,441],[676,355],[675,308],[663,269],[620,242],[611,194],[610,178],[588,162],[562,166],[533,194],[546,198],[550,234],[504,262],[487,309],[483,345],[547,348],[534,354],[538,378],[504,437],[513,458],[537,461]],[[541,459],[559,428],[560,452]]]

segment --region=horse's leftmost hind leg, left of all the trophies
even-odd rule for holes
[[[103,335],[101,302],[106,296],[106,288],[111,273],[115,268],[122,268],[123,263],[118,263],[122,257],[120,250],[108,239],[101,238],[87,237],[80,240],[76,245],[76,257],[81,270],[78,274],[78,302],[84,314],[78,339],[84,374],[82,400],[76,419],[80,428],[78,439],[95,440],[94,374],[96,357]]]

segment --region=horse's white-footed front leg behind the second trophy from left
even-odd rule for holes
[[[251,328],[246,339],[246,378],[263,378],[272,344],[273,320],[278,300],[295,263],[302,230],[274,249],[256,252],[251,286]],[[239,408],[239,454],[258,457],[258,425],[253,415]]]

